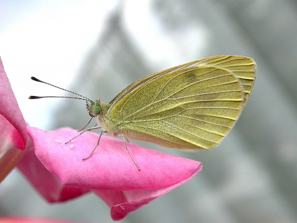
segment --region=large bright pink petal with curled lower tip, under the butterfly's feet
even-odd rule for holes
[[[201,169],[197,161],[167,155],[128,143],[141,171],[133,163],[124,142],[102,136],[99,147],[82,161],[97,144],[99,134],[86,132],[68,144],[78,133],[69,128],[43,131],[28,127],[36,156],[67,186],[93,190],[120,220],[130,212],[187,182]]]

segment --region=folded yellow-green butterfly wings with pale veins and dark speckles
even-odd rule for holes
[[[214,56],[144,77],[111,101],[110,121],[131,139],[210,149],[232,128],[255,83],[256,64]]]

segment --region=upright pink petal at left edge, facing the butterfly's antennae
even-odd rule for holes
[[[18,107],[10,82],[4,71],[0,58],[0,114],[16,129],[13,132],[12,142],[15,147],[24,150],[27,143],[27,129],[23,115]],[[0,126],[1,127],[1,126]]]

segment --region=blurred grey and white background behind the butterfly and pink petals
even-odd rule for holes
[[[108,103],[132,82],[215,55],[252,57],[254,91],[210,151],[138,145],[203,163],[177,189],[121,222],[297,222],[296,1],[0,1],[0,56],[27,123],[82,128],[85,103],[31,76]],[[93,125],[93,124],[92,124]],[[0,215],[113,222],[94,194],[48,204],[17,169]]]

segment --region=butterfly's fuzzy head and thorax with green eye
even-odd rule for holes
[[[87,110],[91,117],[97,120],[97,123],[102,126],[102,129],[106,130],[108,134],[120,134],[121,128],[110,120],[108,116],[108,109],[111,104],[105,104],[96,100],[94,103],[87,103]]]

